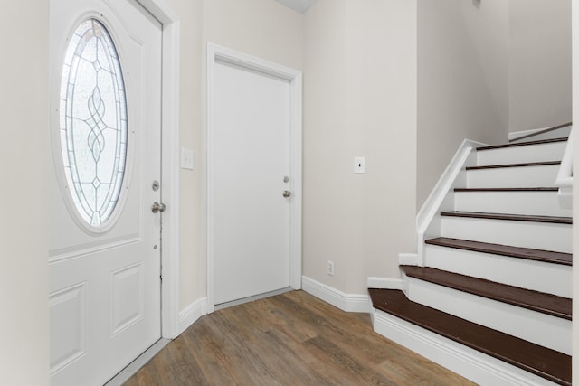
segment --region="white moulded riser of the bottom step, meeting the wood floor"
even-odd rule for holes
[[[374,331],[481,385],[546,386],[554,382],[458,344],[394,315],[373,311]]]

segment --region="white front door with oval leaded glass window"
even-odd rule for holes
[[[51,0],[50,52],[51,381],[101,385],[161,334],[161,25]]]

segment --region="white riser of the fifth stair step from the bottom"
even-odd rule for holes
[[[573,210],[561,208],[557,192],[456,192],[456,211],[532,214],[571,217]]]

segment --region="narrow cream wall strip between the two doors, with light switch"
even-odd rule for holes
[[[180,173],[179,306],[184,309],[206,294],[204,137],[202,137],[202,0],[166,0],[178,15],[181,32],[181,147],[193,149],[194,170]]]

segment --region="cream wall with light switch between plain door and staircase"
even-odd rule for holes
[[[319,0],[305,23],[304,275],[365,294],[415,249],[416,2]]]

